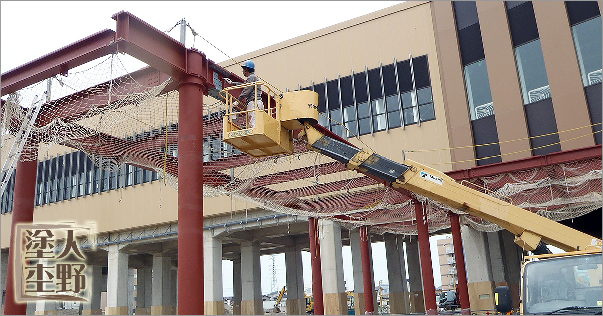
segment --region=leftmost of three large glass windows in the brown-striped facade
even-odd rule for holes
[[[492,93],[490,91],[490,80],[488,80],[486,60],[484,59],[469,64],[464,67],[464,70],[471,120],[494,115],[494,105],[492,103]]]

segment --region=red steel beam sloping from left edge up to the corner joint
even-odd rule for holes
[[[104,29],[2,73],[0,75],[0,95],[4,96],[54,75],[67,76],[69,69],[111,54],[115,52],[115,48],[110,46],[114,38],[114,31]]]

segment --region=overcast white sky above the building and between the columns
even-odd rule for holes
[[[161,31],[179,20],[186,19],[205,39],[230,57],[324,28],[354,17],[372,13],[403,1],[8,1],[0,2],[0,72],[41,57],[103,29],[115,30],[111,16],[128,11]],[[253,26],[253,40],[245,31]],[[265,36],[257,36],[261,32]],[[180,39],[180,27],[169,33]],[[186,34],[186,46],[200,49],[207,58],[220,62],[228,57],[209,44]],[[122,57],[120,57],[122,58]],[[127,58],[127,57],[123,57]],[[128,72],[144,64],[125,63]],[[430,238],[432,253],[435,240]],[[387,265],[383,243],[373,246],[376,283],[387,283]],[[344,247],[344,270],[348,282],[353,282],[349,247]],[[304,256],[304,280],[310,280],[309,255]],[[434,259],[436,287],[441,280]],[[285,285],[284,255],[277,256],[279,288]],[[224,296],[232,296],[232,264],[224,262]],[[229,275],[230,274],[230,275]],[[262,257],[262,292],[271,290],[270,259]]]

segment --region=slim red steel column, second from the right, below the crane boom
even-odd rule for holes
[[[414,200],[417,217],[418,252],[421,258],[421,274],[423,277],[423,296],[425,296],[425,314],[437,315],[435,302],[434,270],[431,267],[431,250],[429,249],[429,229],[423,216],[423,203]]]

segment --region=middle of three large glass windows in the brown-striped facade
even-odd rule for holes
[[[517,72],[522,87],[523,104],[551,98],[549,79],[546,76],[545,58],[540,39],[515,48]]]

